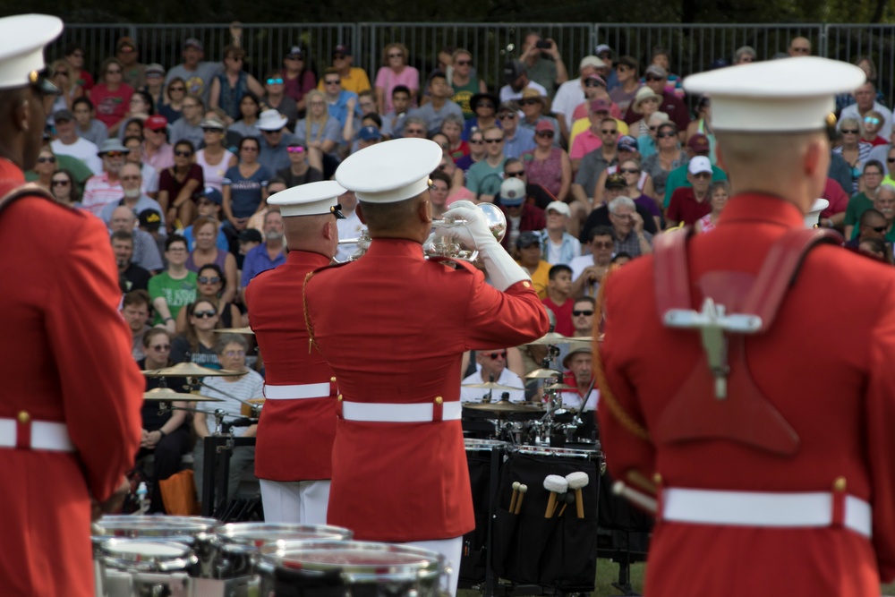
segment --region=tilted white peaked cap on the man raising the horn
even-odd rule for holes
[[[396,139],[361,149],[342,162],[336,180],[358,200],[396,203],[429,188],[429,175],[441,163],[441,146],[428,139]]]

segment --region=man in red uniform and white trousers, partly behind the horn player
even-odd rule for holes
[[[327,522],[337,384],[320,352],[308,350],[301,296],[304,277],[328,265],[336,252],[343,192],[323,181],[268,198],[269,205],[280,206],[290,251],[284,265],[253,278],[245,290],[266,371],[255,475],[268,522]]]

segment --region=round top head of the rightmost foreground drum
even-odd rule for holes
[[[310,573],[337,572],[345,584],[415,582],[435,579],[444,556],[404,545],[373,542],[303,542],[261,548],[261,559],[276,567]]]

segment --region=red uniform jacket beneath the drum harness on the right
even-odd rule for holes
[[[803,226],[790,203],[765,195],[730,200],[711,235],[689,243],[695,280],[706,271],[756,274],[777,238]],[[606,285],[602,355],[609,387],[627,414],[655,429],[669,397],[706,357],[696,331],[661,325],[652,257]],[[644,317],[644,313],[646,317]],[[796,431],[794,456],[722,439],[652,445],[637,439],[601,397],[601,439],[610,472],[661,473],[665,487],[847,492],[873,505],[873,540],[843,528],[772,529],[660,521],[646,591],[680,595],[879,595],[895,574],[895,270],[838,247],[808,253],[767,333],[746,337],[758,388]],[[712,400],[712,388],[706,388]]]

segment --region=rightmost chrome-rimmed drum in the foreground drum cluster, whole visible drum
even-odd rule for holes
[[[280,542],[261,548],[258,572],[260,597],[437,597],[447,586],[444,556],[387,543]]]

